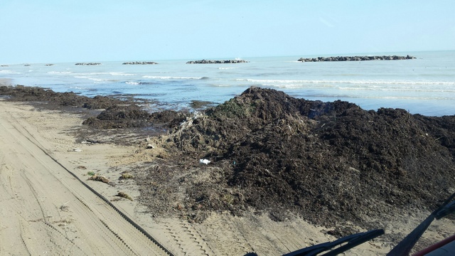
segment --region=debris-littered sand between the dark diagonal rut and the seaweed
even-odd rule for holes
[[[36,131],[49,133],[34,134],[41,136],[48,142],[46,149],[53,152],[56,159],[61,159],[64,166],[68,169],[75,169],[80,174],[81,178],[88,178],[87,171],[95,170],[113,181],[115,186],[108,184],[87,181],[90,186],[100,191],[107,196],[113,203],[119,205],[125,210],[128,215],[134,216],[139,220],[139,223],[149,230],[152,234],[156,234],[169,250],[178,254],[178,252],[194,251],[196,247],[200,249],[200,253],[196,255],[240,255],[250,251],[255,251],[258,254],[283,254],[289,250],[298,250],[301,247],[314,245],[319,242],[328,242],[336,238],[328,235],[330,228],[323,228],[318,225],[309,224],[302,220],[298,215],[289,215],[289,218],[282,222],[274,222],[269,219],[269,215],[265,211],[258,213],[245,212],[243,217],[235,217],[225,212],[214,212],[205,218],[202,223],[188,223],[188,220],[182,218],[176,205],[176,214],[168,217],[154,217],[146,207],[137,204],[137,199],[140,196],[139,188],[132,180],[119,180],[118,177],[122,171],[131,171],[133,174],[139,175],[141,169],[137,168],[138,164],[147,165],[163,165],[158,146],[155,149],[147,150],[144,145],[148,144],[147,138],[143,135],[130,134],[129,130],[118,130],[119,137],[130,142],[130,146],[119,146],[118,144],[110,144],[115,140],[115,134],[91,134],[83,139],[76,139],[74,132],[82,127],[82,119],[80,114],[65,114],[65,111],[50,111],[50,110],[34,110],[33,107],[28,107],[26,103],[5,102],[0,100],[2,109],[6,112],[17,112],[17,120],[20,122],[33,122],[36,126]],[[53,120],[52,122],[50,120]],[[64,120],[62,122],[62,120]],[[70,121],[72,120],[72,121]],[[55,132],[58,136],[55,137]],[[80,140],[80,142],[77,142]],[[102,143],[87,143],[102,142]],[[82,151],[74,151],[81,149]],[[162,149],[164,150],[164,149]],[[161,157],[163,154],[161,154]],[[82,167],[85,169],[82,169]],[[191,167],[191,166],[190,166]],[[134,171],[136,170],[136,171]],[[192,175],[207,174],[207,171],[214,170],[213,167],[205,168],[205,166],[195,165],[191,167]],[[203,178],[203,176],[200,176]],[[151,186],[154,186],[151,184]],[[134,201],[124,200],[116,197],[117,191],[126,191]],[[140,200],[140,199],[139,199]],[[395,220],[390,220],[390,223],[382,223],[386,228],[386,235],[383,238],[375,239],[373,242],[368,242],[361,247],[356,247],[353,252],[361,255],[383,255],[390,250],[390,245],[393,245],[397,240],[404,237],[417,224],[425,218],[427,212],[415,212],[409,216],[397,216]],[[378,220],[368,220],[371,223]],[[230,228],[228,228],[230,227]],[[359,229],[360,227],[357,227]],[[420,247],[427,245],[429,241],[444,238],[454,228],[454,220],[440,220],[435,222],[429,229],[428,237],[422,240]],[[191,230],[191,235],[182,235],[182,230]],[[252,230],[262,230],[260,233]],[[361,230],[361,228],[360,228]],[[177,237],[176,237],[177,235]],[[207,239],[207,238],[211,239]],[[196,238],[195,242],[189,242]],[[304,239],[302,239],[304,238]],[[234,241],[240,242],[241,246],[234,246]],[[177,244],[187,242],[189,247],[181,248]]]

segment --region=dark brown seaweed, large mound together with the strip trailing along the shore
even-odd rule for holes
[[[455,187],[455,116],[367,111],[257,87],[193,117],[36,87],[0,87],[0,95],[105,109],[85,121],[89,128],[170,129],[156,137],[166,155],[132,170],[139,200],[156,215],[178,210],[200,221],[211,210],[255,209],[274,220],[292,213],[327,227],[365,225],[437,208]]]

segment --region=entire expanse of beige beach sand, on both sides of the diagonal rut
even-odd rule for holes
[[[134,180],[119,176],[134,161],[147,160],[138,158],[144,156],[143,149],[77,143],[72,134],[81,123],[77,114],[0,100],[0,255],[166,255],[68,171],[173,255],[282,255],[336,240],[324,227],[297,217],[274,222],[267,213],[243,217],[212,213],[203,223],[188,223],[177,215],[158,218],[137,201],[116,196],[119,192],[133,199],[139,196]],[[88,171],[111,182],[87,181]],[[397,216],[385,223],[386,235],[346,255],[385,255],[428,214]],[[454,230],[454,220],[437,220],[422,240],[441,240]]]

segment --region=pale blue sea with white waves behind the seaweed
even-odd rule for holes
[[[122,64],[137,60],[97,62],[101,65],[20,63],[1,65],[0,79],[11,85],[89,97],[124,95],[152,100],[151,110],[191,109],[193,100],[218,105],[255,86],[306,100],[353,102],[364,110],[386,107],[427,116],[455,114],[455,50],[343,54],[355,55],[411,55],[415,59],[302,63],[299,58],[338,55],[299,55],[242,58],[249,62],[230,64],[153,59],[145,61],[159,64]]]

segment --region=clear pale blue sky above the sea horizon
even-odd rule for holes
[[[1,0],[0,64],[455,50],[454,0]]]

